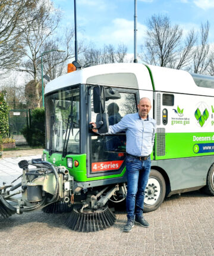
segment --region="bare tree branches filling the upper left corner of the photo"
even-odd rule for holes
[[[33,10],[35,3],[36,0],[0,0],[0,69],[12,68],[20,60],[25,15]]]

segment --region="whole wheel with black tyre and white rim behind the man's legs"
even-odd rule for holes
[[[166,195],[166,183],[159,171],[151,170],[145,190],[144,213],[155,211],[162,204]]]

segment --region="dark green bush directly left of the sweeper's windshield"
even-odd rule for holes
[[[32,110],[31,125],[24,127],[21,133],[29,146],[43,146],[45,148],[45,109]]]

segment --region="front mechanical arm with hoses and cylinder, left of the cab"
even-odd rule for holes
[[[72,210],[68,196],[73,177],[65,167],[55,167],[42,159],[23,160],[18,166],[23,174],[10,185],[0,186],[0,219],[44,207],[49,213]]]

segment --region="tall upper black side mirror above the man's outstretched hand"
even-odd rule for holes
[[[93,108],[95,113],[104,113],[105,111],[105,90],[103,86],[93,88]]]

